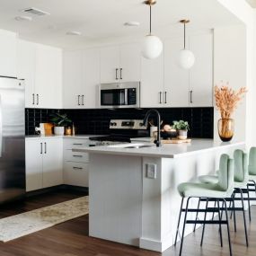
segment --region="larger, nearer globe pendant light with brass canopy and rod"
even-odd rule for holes
[[[151,34],[151,6],[156,4],[155,0],[147,0],[144,2],[149,5],[149,34],[146,35],[142,44],[142,56],[153,59],[159,57],[163,50],[163,42],[156,36]]]

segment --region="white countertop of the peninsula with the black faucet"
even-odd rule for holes
[[[147,140],[148,141],[148,140]],[[126,146],[149,146],[142,148],[126,148]],[[150,142],[133,142],[130,144],[119,144],[112,146],[94,146],[73,148],[74,152],[86,152],[90,154],[117,154],[117,155],[141,155],[149,157],[177,158],[190,154],[199,154],[218,148],[231,146],[245,146],[244,142],[220,142],[213,139],[192,139],[191,143],[164,144],[156,147]]]

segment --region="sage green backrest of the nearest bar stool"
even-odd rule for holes
[[[219,161],[218,185],[220,190],[227,191],[234,188],[234,160],[228,154],[222,154]]]

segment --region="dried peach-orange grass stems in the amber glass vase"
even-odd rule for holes
[[[245,87],[234,91],[228,83],[215,86],[216,107],[220,111],[222,119],[230,119],[238,102],[243,99],[244,93],[247,93]]]

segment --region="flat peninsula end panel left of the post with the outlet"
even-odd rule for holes
[[[90,154],[89,235],[139,245],[142,158]]]

